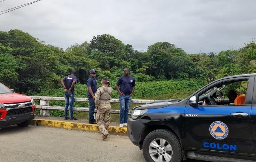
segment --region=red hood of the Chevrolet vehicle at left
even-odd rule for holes
[[[0,94],[0,103],[2,104],[11,104],[18,102],[28,102],[32,99],[23,94],[10,93],[10,94]]]

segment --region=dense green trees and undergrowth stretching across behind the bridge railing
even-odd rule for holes
[[[256,44],[252,40],[239,50],[194,54],[157,42],[144,52],[103,34],[63,51],[21,30],[0,31],[0,82],[20,93],[63,96],[60,81],[74,69],[76,94],[86,97],[91,68],[98,71],[98,79],[107,77],[114,87],[125,67],[137,82],[134,98],[195,90],[227,75],[256,72]],[[117,98],[116,91],[113,96]]]

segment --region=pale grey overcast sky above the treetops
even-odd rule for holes
[[[0,0],[0,11],[34,0]],[[41,0],[0,15],[0,31],[19,29],[67,49],[110,34],[147,51],[169,42],[185,52],[218,54],[256,37],[256,0]]]

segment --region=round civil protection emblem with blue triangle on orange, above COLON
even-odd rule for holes
[[[209,130],[215,139],[225,139],[228,136],[228,126],[223,122],[213,122]]]

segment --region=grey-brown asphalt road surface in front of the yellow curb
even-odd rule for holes
[[[0,128],[3,162],[145,162],[127,136],[43,126]],[[203,162],[185,160],[184,162]]]

